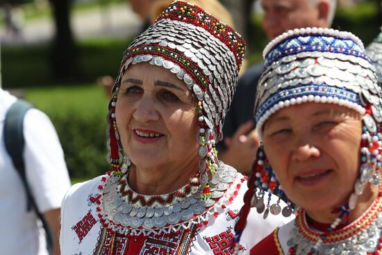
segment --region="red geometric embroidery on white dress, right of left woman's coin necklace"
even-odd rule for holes
[[[204,238],[215,255],[228,255],[233,254],[231,242],[233,239],[233,233],[231,228],[227,229],[223,233],[219,233],[216,236]],[[240,246],[239,249],[242,249]]]

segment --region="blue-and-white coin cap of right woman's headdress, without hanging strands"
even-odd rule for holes
[[[262,127],[277,110],[305,102],[368,111],[382,122],[382,92],[363,43],[349,32],[300,28],[279,35],[263,51],[255,117]]]

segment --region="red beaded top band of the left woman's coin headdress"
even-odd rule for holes
[[[219,20],[209,13],[206,13],[206,11],[199,6],[194,6],[183,1],[172,3],[167,10],[156,19],[156,22],[161,19],[177,20],[206,29],[211,35],[229,47],[235,56],[238,71],[240,70],[244,58],[245,42],[231,26],[219,22]]]

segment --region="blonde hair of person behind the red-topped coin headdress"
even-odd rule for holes
[[[192,3],[196,6],[201,7],[206,10],[207,13],[216,17],[219,21],[224,22],[225,24],[234,27],[233,18],[229,11],[219,3],[217,0],[183,0],[187,3]],[[153,23],[156,18],[163,13],[163,10],[167,8],[174,0],[158,0],[153,3],[153,7],[151,8],[150,21]]]

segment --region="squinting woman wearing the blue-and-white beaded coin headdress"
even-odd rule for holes
[[[264,53],[255,111],[262,146],[250,187],[286,195],[282,213],[292,203],[299,210],[251,254],[381,254],[382,92],[362,42],[301,28]],[[261,197],[249,189],[237,231]]]

